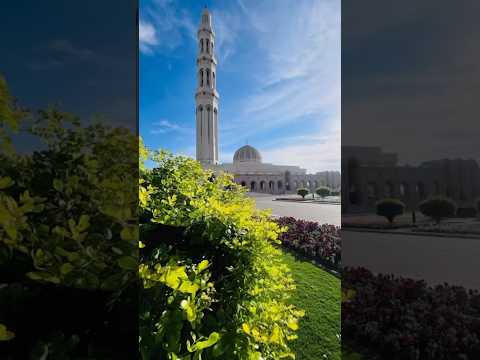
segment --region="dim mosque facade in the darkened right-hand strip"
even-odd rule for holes
[[[432,196],[446,196],[458,207],[480,197],[480,167],[474,159],[440,159],[418,166],[398,164],[398,155],[380,147],[342,147],[342,213],[372,213],[383,198],[402,200],[407,210]]]

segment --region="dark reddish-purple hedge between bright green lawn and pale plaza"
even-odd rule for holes
[[[283,246],[327,266],[340,268],[342,245],[338,226],[293,217],[281,217],[276,221],[286,228],[279,237]]]

